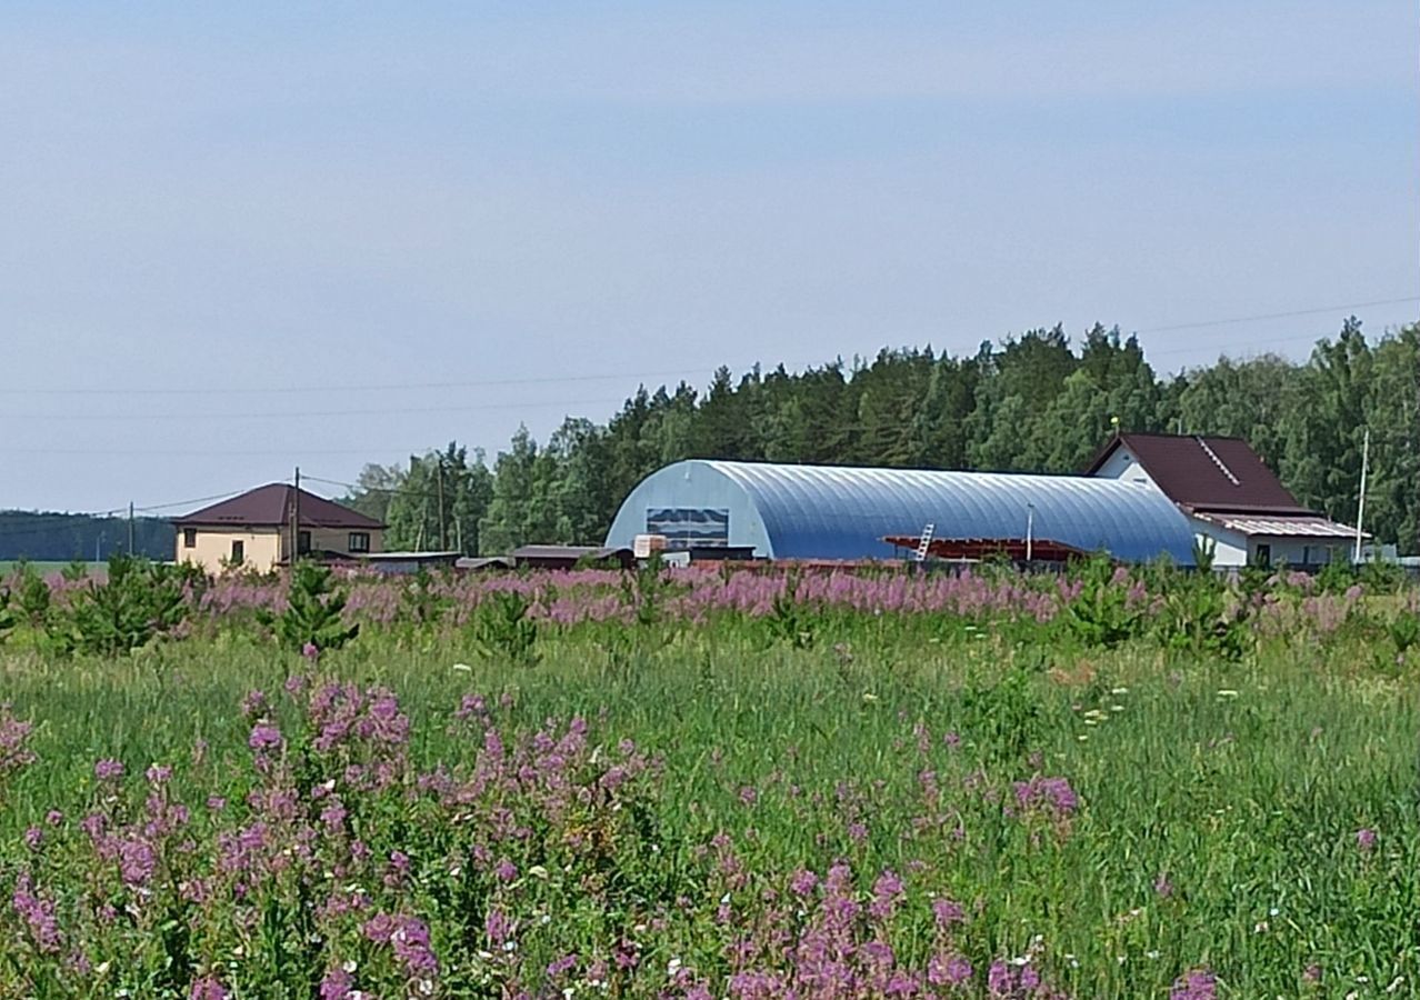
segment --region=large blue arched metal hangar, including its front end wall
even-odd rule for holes
[[[638,534],[670,548],[743,545],[765,558],[892,558],[888,537],[1106,551],[1125,562],[1167,554],[1193,564],[1187,518],[1149,483],[1017,473],[852,469],[692,459],[652,473],[622,503],[608,547]]]

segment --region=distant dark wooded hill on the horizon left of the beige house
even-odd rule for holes
[[[173,545],[170,521],[160,517],[133,520],[133,551],[138,555],[170,560]],[[106,560],[126,550],[126,517],[0,510],[0,560]]]

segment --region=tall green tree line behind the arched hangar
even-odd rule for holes
[[[974,355],[883,348],[802,372],[720,368],[703,393],[639,388],[606,423],[520,429],[491,464],[450,443],[368,464],[344,500],[389,526],[390,548],[497,554],[599,544],[643,477],[682,459],[1074,473],[1112,432],[1237,436],[1296,499],[1355,523],[1370,430],[1366,524],[1420,550],[1420,324],[1367,339],[1348,320],[1305,362],[1220,358],[1160,376],[1135,337],[1032,330]]]

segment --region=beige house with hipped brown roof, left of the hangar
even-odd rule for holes
[[[268,483],[176,518],[176,561],[213,574],[239,565],[266,572],[290,564],[293,523],[301,558],[358,560],[385,548],[385,526],[373,517],[285,483]]]

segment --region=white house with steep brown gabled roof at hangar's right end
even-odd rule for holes
[[[1356,528],[1296,503],[1240,438],[1122,433],[1085,474],[1157,486],[1211,540],[1218,567],[1316,567],[1350,558],[1356,543]]]

